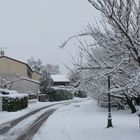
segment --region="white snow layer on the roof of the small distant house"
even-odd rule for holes
[[[51,78],[54,82],[69,82],[67,75],[51,75]]]

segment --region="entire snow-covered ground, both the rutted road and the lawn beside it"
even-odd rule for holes
[[[0,140],[133,140],[140,137],[139,118],[130,110],[112,110],[113,128],[107,129],[107,109],[99,107],[93,99],[58,103],[37,102],[18,112],[0,112],[1,127],[10,121],[6,123],[9,129],[1,133]]]

